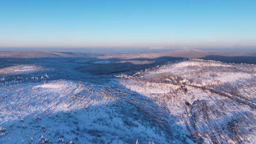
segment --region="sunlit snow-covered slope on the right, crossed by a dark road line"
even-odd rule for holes
[[[256,66],[190,60],[121,83],[168,109],[196,143],[256,143]]]

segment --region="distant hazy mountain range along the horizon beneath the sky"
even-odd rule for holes
[[[206,56],[256,56],[256,52],[213,52],[201,50],[177,50],[162,53],[145,53],[145,54],[89,54],[89,53],[68,53],[68,52],[0,52],[0,58],[55,58],[55,57],[95,57],[100,59],[118,58],[118,59],[153,59],[158,57],[182,57],[182,58],[204,58]]]

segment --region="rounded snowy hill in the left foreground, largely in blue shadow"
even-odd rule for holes
[[[182,144],[182,130],[168,127],[159,108],[118,83],[71,80],[0,87],[0,143]],[[137,108],[137,106],[141,106]],[[150,116],[150,117],[149,117]],[[166,129],[163,124],[166,124]],[[154,127],[152,127],[154,125]],[[159,125],[159,126],[158,126]],[[163,135],[174,130],[172,135]],[[172,138],[170,138],[172,137]],[[171,141],[172,140],[172,141]]]

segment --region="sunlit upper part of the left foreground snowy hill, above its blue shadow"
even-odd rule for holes
[[[31,113],[69,111],[76,108],[86,108],[90,105],[105,105],[110,99],[93,97],[92,91],[84,83],[75,81],[50,81],[39,85],[20,84],[1,88],[4,95],[12,95],[1,99],[1,110],[5,119],[1,123],[11,122]],[[78,100],[75,100],[78,98]],[[74,100],[73,100],[74,99]],[[69,102],[72,100],[72,102]],[[11,101],[9,103],[8,101]],[[6,110],[5,110],[6,109]]]

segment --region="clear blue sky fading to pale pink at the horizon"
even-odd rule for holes
[[[256,48],[256,0],[0,0],[0,47]]]

